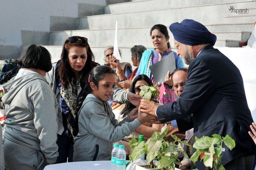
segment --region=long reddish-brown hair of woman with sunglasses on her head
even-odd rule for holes
[[[69,82],[71,82],[71,79],[76,77],[75,73],[72,71],[70,64],[68,62],[69,48],[74,47],[74,46],[86,48],[87,60],[84,65],[84,68],[80,71],[80,73],[82,73],[83,76],[86,76],[89,73],[89,71],[92,70],[93,67],[99,65],[98,63],[94,62],[94,55],[93,55],[92,50],[87,42],[87,39],[85,37],[79,37],[79,36],[72,36],[72,37],[77,38],[77,41],[70,42],[70,41],[68,41],[68,39],[71,37],[69,37],[65,41],[65,43],[62,47],[60,65],[58,68],[58,77],[61,80],[62,87],[67,87]],[[82,41],[82,39],[86,39],[86,41]],[[86,80],[84,78],[80,80],[80,85],[82,88],[85,85],[85,81]]]

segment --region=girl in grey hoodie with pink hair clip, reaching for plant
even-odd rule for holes
[[[113,142],[156,117],[139,112],[118,123],[107,102],[116,85],[115,71],[107,66],[97,66],[87,78],[78,104],[79,132],[75,137],[73,161],[110,160]]]

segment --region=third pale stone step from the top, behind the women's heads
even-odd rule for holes
[[[169,30],[169,29],[168,29]],[[145,47],[153,47],[151,37],[149,35],[150,28],[133,28],[118,30],[118,45],[120,47],[133,47],[134,45],[144,45]],[[212,32],[220,40],[239,40],[247,41],[250,37],[250,32]],[[114,29],[107,30],[73,30],[73,31],[55,31],[50,32],[50,41],[48,45],[58,46],[63,45],[65,40],[74,35],[86,37],[91,46],[105,47],[114,44]],[[174,46],[173,36],[169,30],[171,46]],[[99,38],[100,37],[100,38]],[[32,42],[31,42],[32,43]],[[23,45],[29,45],[23,44]]]

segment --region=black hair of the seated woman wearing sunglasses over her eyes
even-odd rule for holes
[[[150,78],[148,78],[147,75],[145,75],[145,74],[140,74],[138,77],[136,77],[136,78],[133,80],[129,92],[135,93],[135,90],[134,90],[135,84],[137,83],[137,81],[140,81],[140,80],[146,81],[146,82],[148,83],[148,85],[150,85],[150,86],[153,85],[152,81],[150,80]],[[122,118],[124,118],[126,115],[128,115],[128,114],[132,111],[132,109],[134,109],[135,107],[136,107],[136,106],[134,106],[130,101],[127,102],[127,103],[125,104],[125,107],[124,107],[123,111],[122,111],[121,114],[120,114],[120,115],[123,115]]]

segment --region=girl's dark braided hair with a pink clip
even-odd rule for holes
[[[98,86],[100,80],[104,79],[107,74],[115,74],[116,75],[116,72],[108,66],[99,65],[99,66],[94,67],[89,72],[89,74],[86,76],[86,78],[84,78],[86,80],[86,83],[85,83],[84,88],[82,89],[83,90],[82,96],[79,98],[77,112],[82,107],[82,104],[83,104],[86,96],[88,94],[92,93],[92,88],[91,88],[88,80],[90,79],[90,82],[93,82],[96,86]]]

